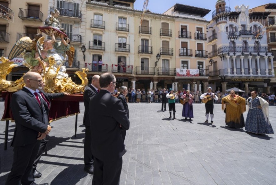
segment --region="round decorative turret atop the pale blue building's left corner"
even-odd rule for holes
[[[224,0],[218,0],[216,3],[216,10],[212,13],[212,19],[218,21],[226,21],[227,16],[230,14],[231,8],[225,6]]]

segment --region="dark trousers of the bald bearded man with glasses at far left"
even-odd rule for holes
[[[6,185],[33,185],[33,162],[37,156],[40,140],[13,149],[13,166]]]

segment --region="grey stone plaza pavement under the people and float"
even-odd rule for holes
[[[0,102],[3,113],[4,103]],[[220,104],[214,105],[214,124],[206,124],[204,104],[193,104],[192,121],[181,117],[169,120],[161,103],[129,103],[130,129],[126,135],[127,153],[123,156],[121,185],[275,185],[275,134],[256,135],[244,129],[225,126]],[[84,106],[80,103],[77,137],[75,116],[54,121],[48,155],[38,164],[42,177],[36,183],[51,185],[92,184],[93,175],[83,170],[82,124]],[[270,121],[276,132],[276,106],[269,106]],[[246,118],[247,112],[244,113]],[[2,115],[1,115],[2,117]],[[12,165],[10,143],[15,128],[10,123],[8,150],[4,150],[5,122],[0,122],[0,184],[4,184]]]

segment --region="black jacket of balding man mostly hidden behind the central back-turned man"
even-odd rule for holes
[[[88,108],[89,108],[89,102],[90,99],[98,94],[96,89],[90,84],[89,86],[85,87],[84,93],[83,93],[83,103],[84,103],[84,116],[83,116],[83,124],[85,126],[90,126],[89,121],[89,114],[88,114]]]

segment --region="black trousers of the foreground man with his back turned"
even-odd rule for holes
[[[122,157],[116,161],[105,162],[94,156],[92,185],[119,185],[122,165]]]

